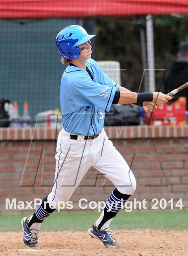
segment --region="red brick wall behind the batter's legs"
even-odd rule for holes
[[[175,202],[183,198],[184,207],[188,207],[188,126],[125,126],[106,127],[105,130],[129,166],[134,157],[132,171],[137,190],[132,199],[145,198],[150,208],[152,198],[173,198]],[[57,134],[55,129],[0,129],[1,212],[10,211],[5,210],[5,198],[33,201],[51,191]],[[24,186],[20,186],[26,159]],[[97,177],[97,174],[98,171],[90,168],[85,175],[70,199],[75,202],[74,209],[78,208],[77,201],[81,198],[105,201],[113,190],[109,181],[103,186],[104,177]]]

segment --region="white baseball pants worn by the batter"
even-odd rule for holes
[[[84,140],[84,135],[70,139],[70,134],[62,129],[57,139],[56,173],[48,202],[66,203],[91,166],[111,180],[120,193],[135,192],[135,177],[104,129],[92,140]]]

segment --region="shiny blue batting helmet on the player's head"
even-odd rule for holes
[[[89,41],[95,35],[88,35],[85,29],[79,25],[71,25],[62,29],[56,36],[56,45],[63,58],[74,59],[81,54],[77,48]]]

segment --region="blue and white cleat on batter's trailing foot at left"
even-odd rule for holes
[[[27,223],[30,220],[30,216],[24,217],[21,220],[22,229],[24,232],[23,242],[29,247],[38,247],[38,230],[30,229]]]

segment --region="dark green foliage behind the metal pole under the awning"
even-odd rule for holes
[[[126,17],[125,17],[126,18]],[[179,42],[188,40],[188,15],[157,15],[154,19],[155,68],[167,69],[176,58]],[[140,26],[145,17],[128,17],[126,20],[96,21],[96,58],[120,62],[121,84],[137,91],[142,76]],[[156,72],[156,89],[164,72]],[[132,82],[129,83],[128,76]],[[141,90],[144,90],[143,85]]]

